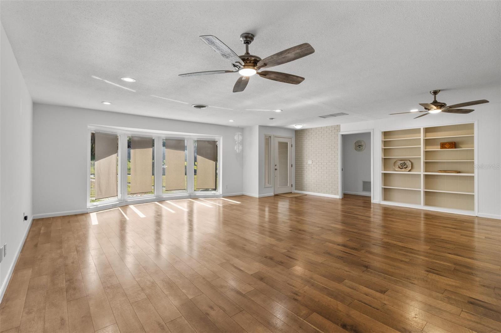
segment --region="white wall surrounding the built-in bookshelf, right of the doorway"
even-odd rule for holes
[[[485,96],[498,96],[495,88],[485,89],[478,99]],[[469,96],[464,101],[472,100]],[[456,101],[454,101],[456,102]],[[461,100],[457,101],[461,102]],[[477,164],[493,165],[486,169],[478,169],[478,215],[501,218],[501,104],[490,102],[475,105],[475,111],[468,114],[438,113],[418,119],[412,115],[394,115],[380,120],[370,120],[341,124],[341,131],[374,129],[374,202],[380,201],[381,186],[381,131],[398,128],[435,126],[458,122],[477,121],[478,159]]]

